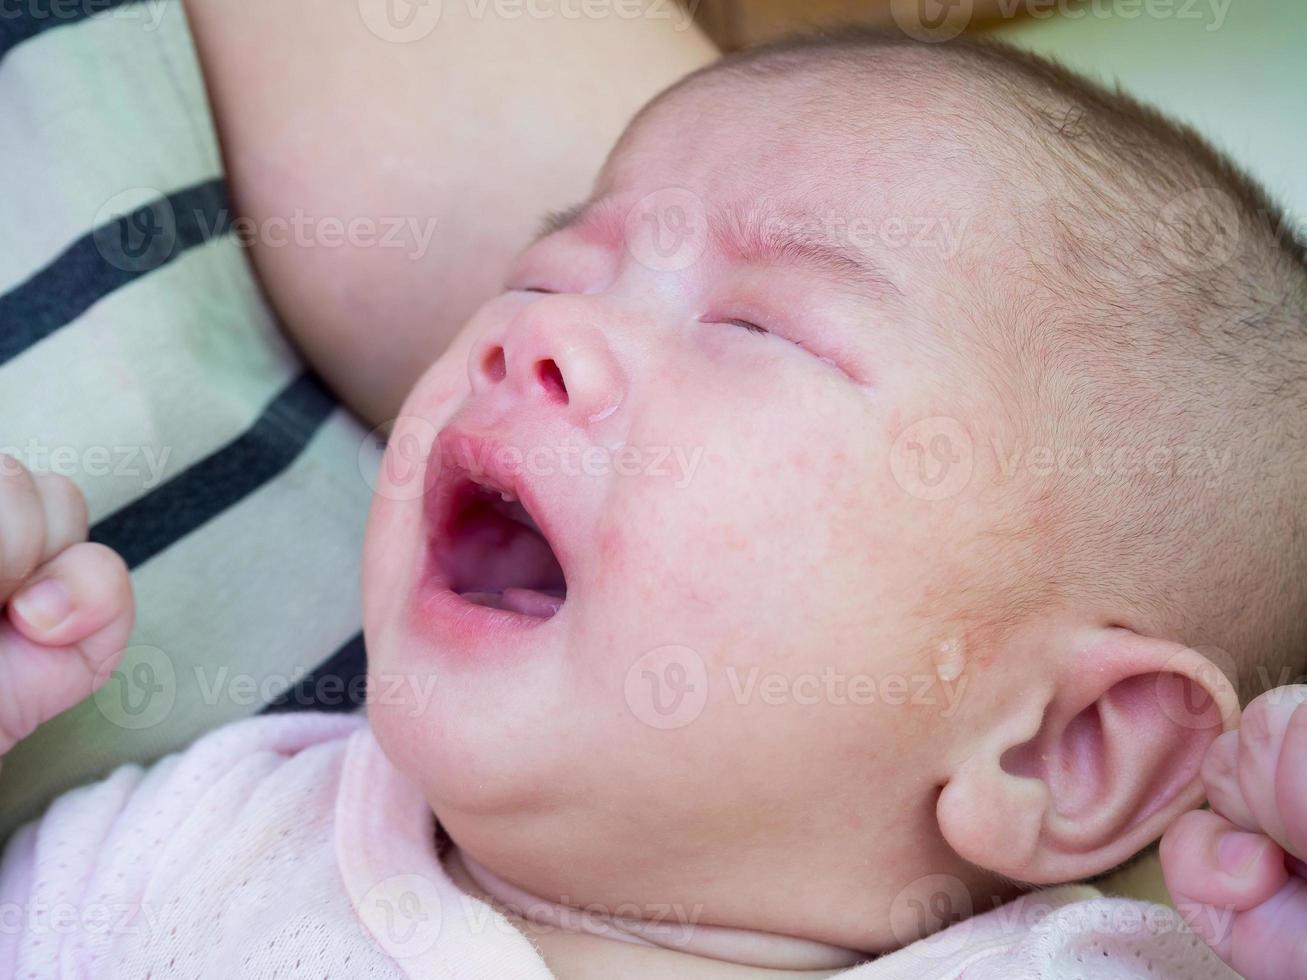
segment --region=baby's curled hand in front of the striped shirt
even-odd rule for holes
[[[72,481],[0,455],[0,755],[107,677],[132,630],[123,559]]]

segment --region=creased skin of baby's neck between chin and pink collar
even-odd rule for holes
[[[829,977],[857,963],[860,954],[836,946],[748,929],[690,924],[634,923],[596,915],[529,895],[451,848],[446,872],[531,938],[561,980],[591,976]]]

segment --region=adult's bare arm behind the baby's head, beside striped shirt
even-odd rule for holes
[[[187,13],[256,272],[308,362],[371,423],[501,289],[541,214],[588,193],[639,106],[716,56],[672,0],[187,0]]]

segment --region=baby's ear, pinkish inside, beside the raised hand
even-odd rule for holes
[[[1031,885],[1100,874],[1159,838],[1201,802],[1202,757],[1239,716],[1197,651],[1116,627],[1068,644],[1046,651],[1052,673],[1009,702],[936,810],[961,857]]]

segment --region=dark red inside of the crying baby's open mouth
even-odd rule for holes
[[[549,619],[567,580],[549,540],[511,490],[459,474],[437,506],[433,572],[472,605]]]

